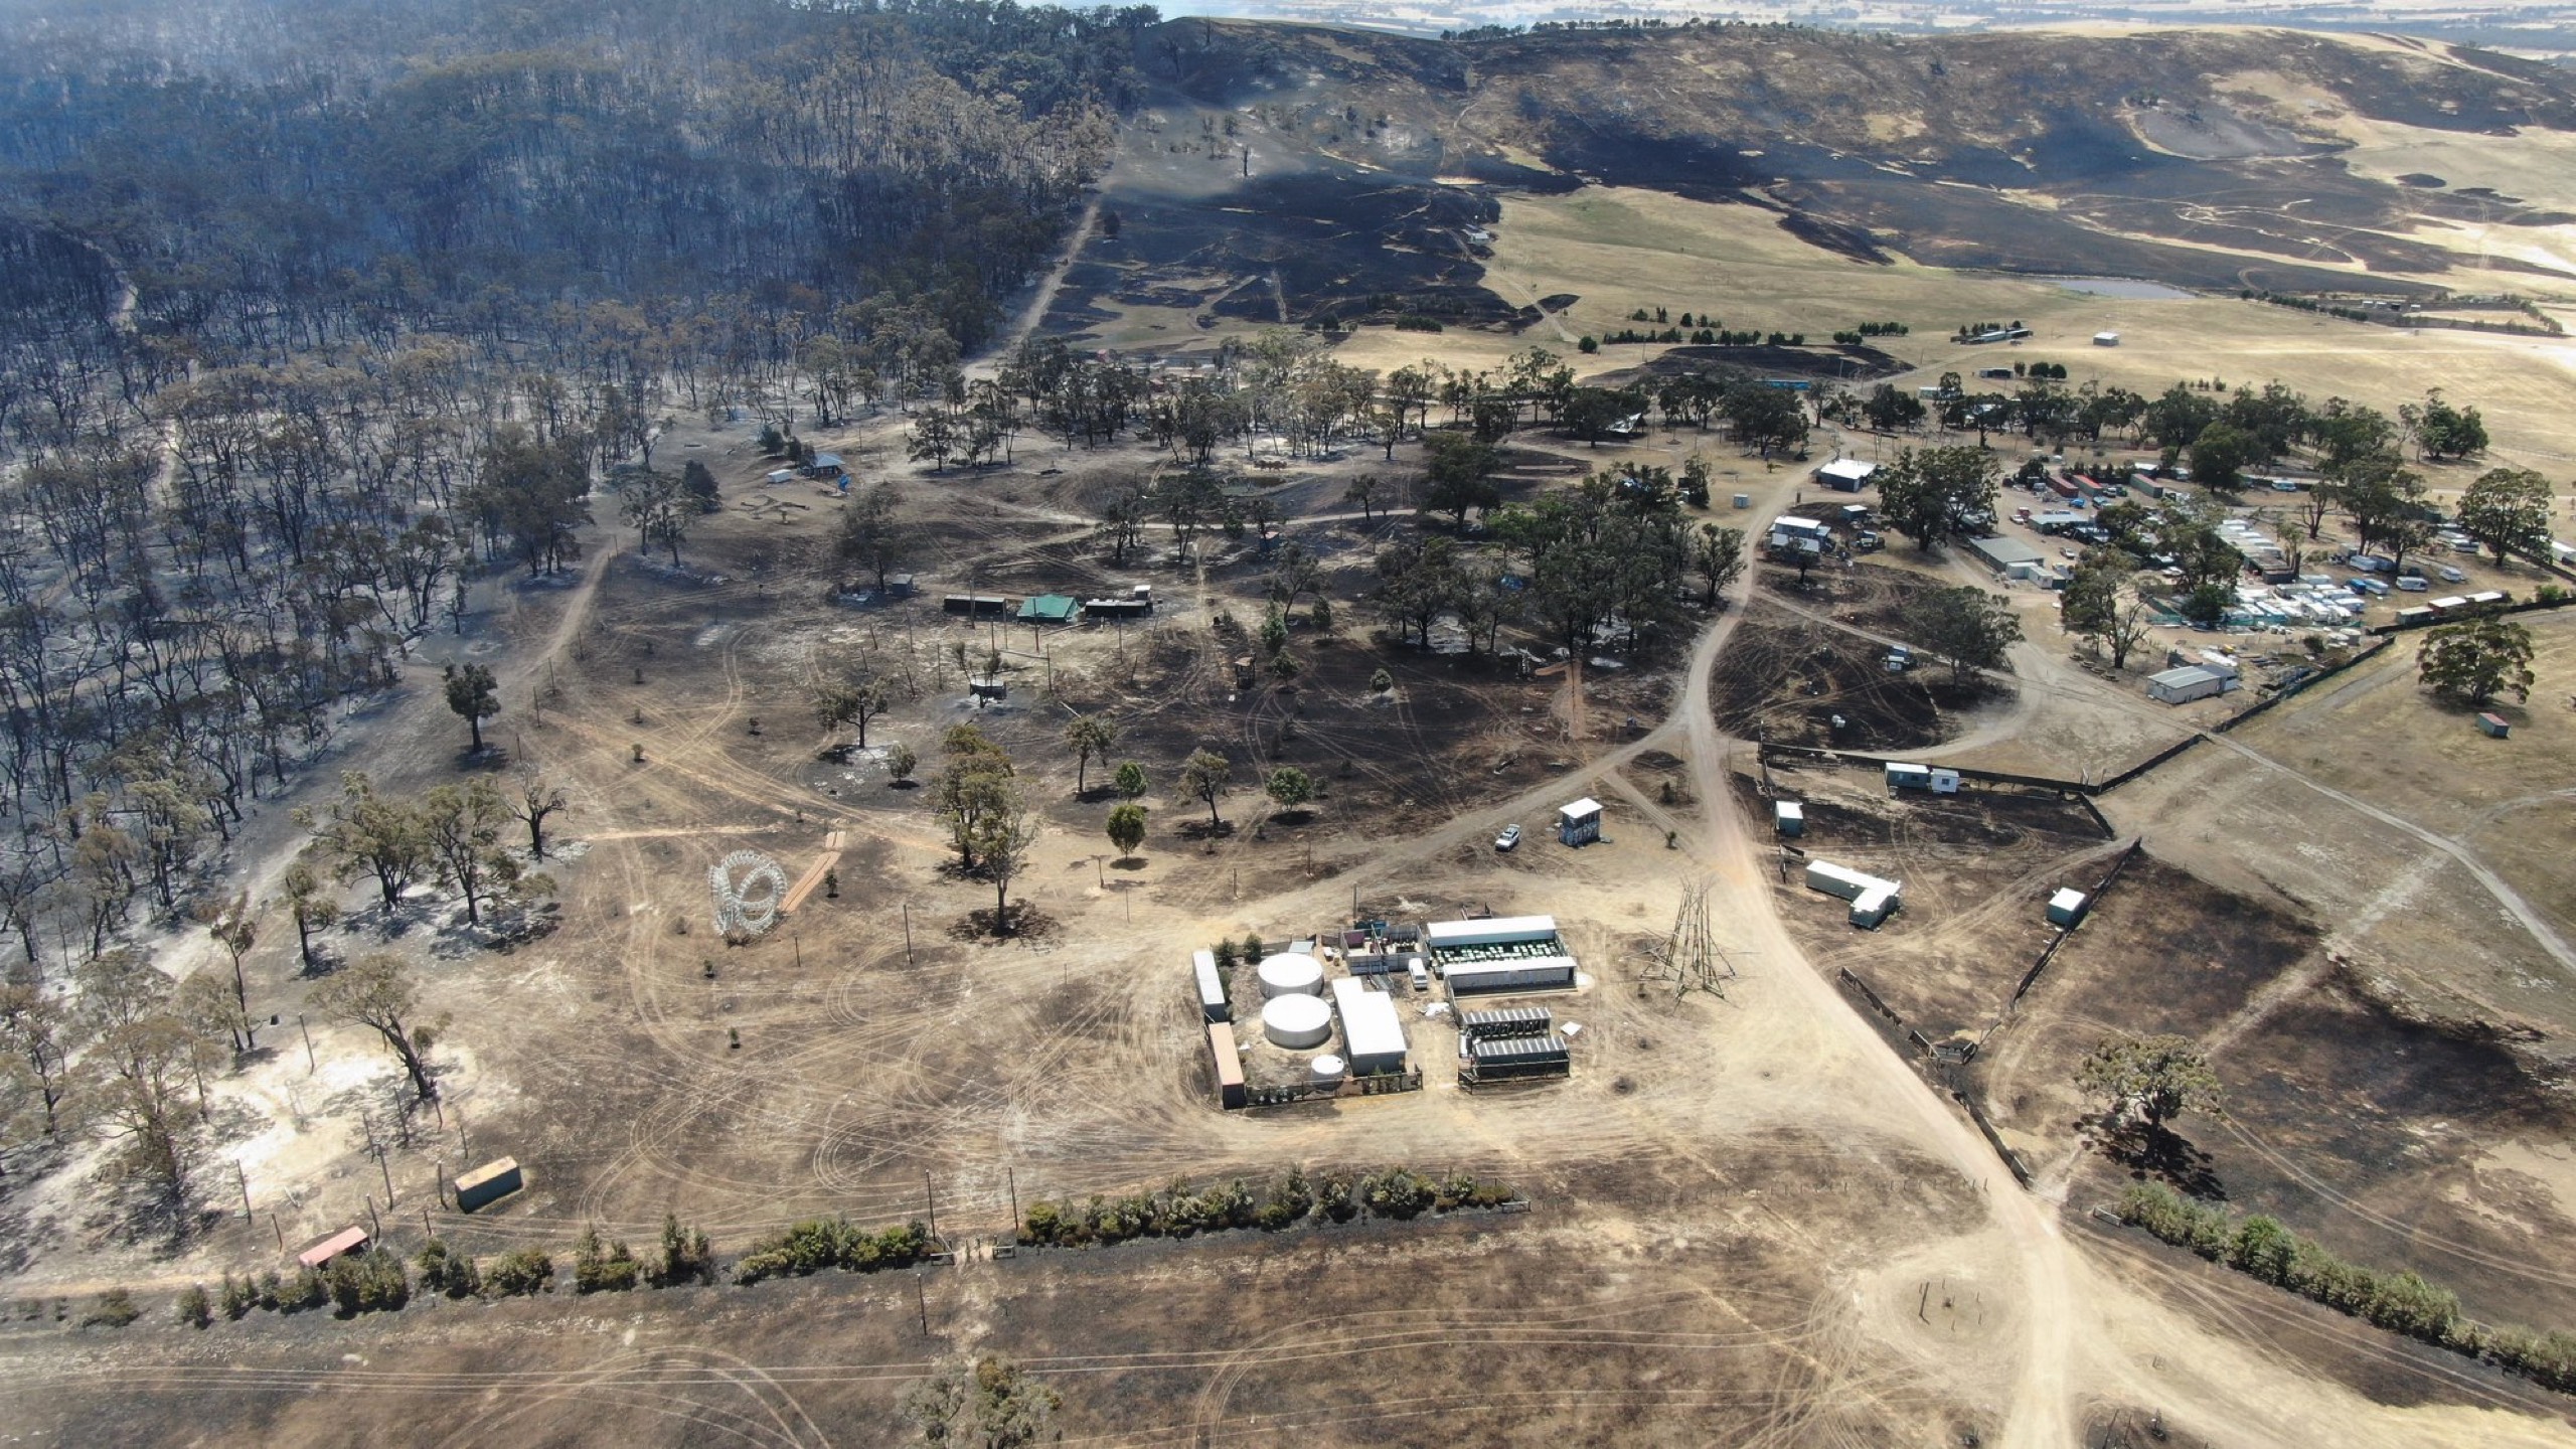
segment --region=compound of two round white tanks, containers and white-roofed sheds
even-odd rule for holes
[[[1360,920],[1257,959],[1195,951],[1190,972],[1229,1109],[1419,1088],[1406,1016],[1455,1029],[1461,1085],[1571,1070],[1579,1029],[1548,1008],[1468,1008],[1582,985],[1553,915]]]

